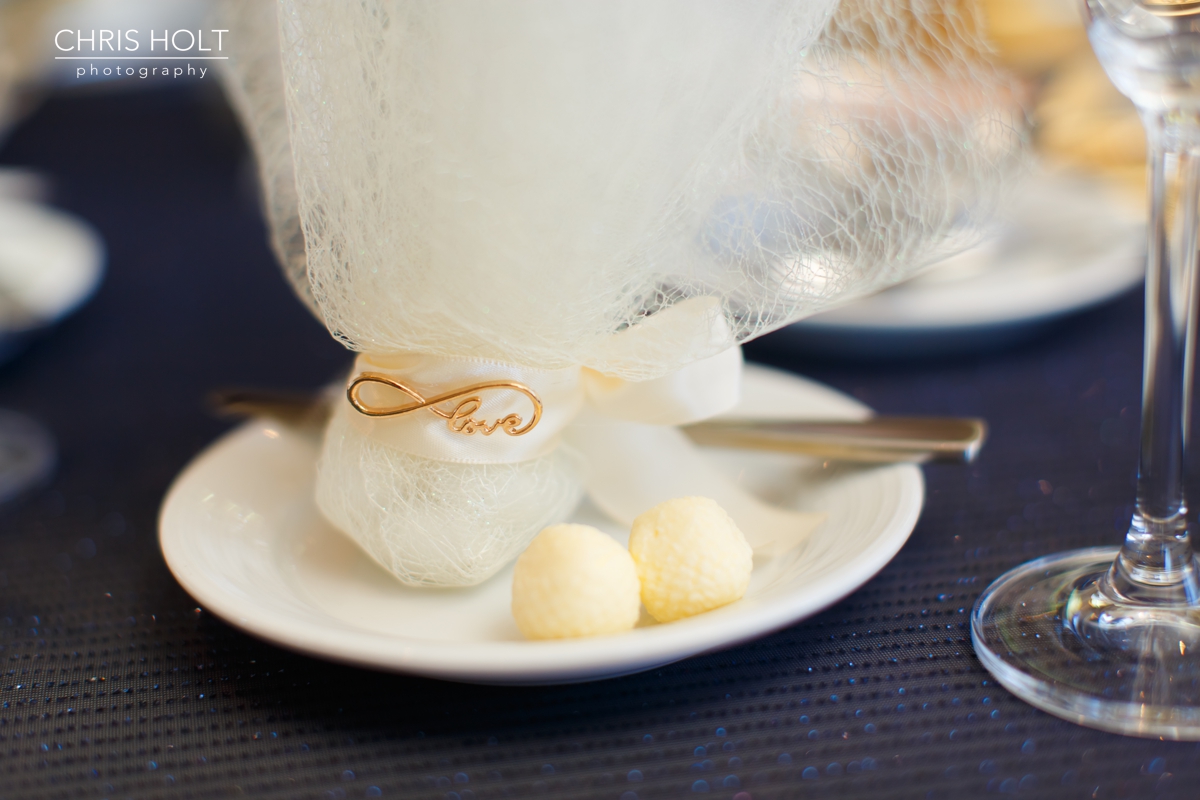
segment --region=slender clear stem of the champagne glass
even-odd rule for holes
[[[1103,590],[1135,603],[1200,603],[1183,494],[1200,260],[1200,114],[1145,110],[1142,121],[1151,209],[1138,505]]]

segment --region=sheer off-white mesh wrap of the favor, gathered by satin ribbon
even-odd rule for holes
[[[355,350],[631,380],[704,355],[610,347],[684,299],[721,299],[732,344],[894,282],[968,243],[1019,137],[958,0],[834,5],[281,0],[272,36],[232,4],[288,275]],[[448,464],[343,426],[318,501],[446,585],[578,493],[558,453]]]

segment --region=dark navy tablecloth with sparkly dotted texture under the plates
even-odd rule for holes
[[[211,82],[52,97],[0,149],[109,246],[95,300],[0,369],[0,407],[59,439],[53,483],[0,509],[0,799],[1194,798],[1200,746],[1049,717],[997,687],[967,620],[1037,555],[1116,543],[1134,494],[1140,294],[1004,351],[754,359],[880,411],[986,417],[929,467],[911,541],[829,610],[608,681],[497,688],[326,663],[197,608],[156,513],[228,423],[214,386],[318,386],[348,355],[265,246]]]

